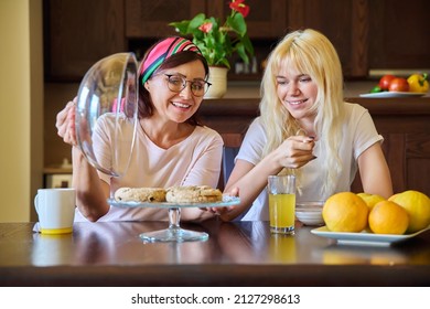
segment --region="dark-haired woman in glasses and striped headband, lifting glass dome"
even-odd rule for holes
[[[73,146],[77,221],[168,219],[166,212],[160,209],[110,207],[106,200],[121,187],[216,187],[223,140],[216,131],[202,126],[195,118],[209,86],[207,74],[206,60],[186,39],[168,38],[149,50],[140,66],[137,143],[128,172],[120,178],[97,171],[76,147],[73,102],[58,113],[58,135]],[[112,134],[112,122],[108,118],[100,120],[103,134],[98,135],[95,151],[103,157],[105,166],[109,166],[112,153],[108,136]],[[127,130],[132,134],[129,128],[121,128],[122,132]],[[212,213],[200,209],[182,211],[183,220],[212,216]]]

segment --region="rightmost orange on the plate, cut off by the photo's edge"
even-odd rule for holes
[[[408,190],[388,199],[402,206],[409,214],[407,233],[415,233],[430,225],[430,199],[424,193]]]

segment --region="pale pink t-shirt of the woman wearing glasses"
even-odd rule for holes
[[[105,114],[97,121],[97,129],[93,135],[94,153],[97,161],[109,169],[112,166],[112,151],[122,147],[118,153],[128,154],[129,142],[132,137],[132,122],[123,118],[117,140],[123,145],[112,146],[115,130],[115,115]],[[207,127],[195,127],[194,131],[183,141],[162,149],[154,145],[140,126],[137,127],[137,137],[131,153],[130,166],[127,172],[119,178],[98,172],[101,180],[110,184],[110,195],[121,187],[151,187],[169,188],[172,185],[207,184],[216,188],[218,184],[221,161],[223,156],[223,139],[218,132]],[[123,149],[126,147],[126,149]],[[128,156],[122,156],[127,159]],[[123,161],[123,160],[122,160]],[[123,162],[120,162],[122,164]],[[109,212],[98,221],[144,221],[141,209],[126,209],[111,206]],[[86,221],[76,211],[75,221]]]

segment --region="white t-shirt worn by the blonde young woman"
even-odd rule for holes
[[[342,161],[342,172],[337,178],[335,192],[350,191],[351,184],[357,172],[357,158],[375,142],[383,142],[375,124],[367,109],[358,104],[345,103],[345,119],[343,124],[343,139],[338,151]],[[265,128],[260,117],[257,117],[245,136],[236,159],[257,164],[261,161],[262,149],[267,142]],[[320,153],[320,142],[315,141],[313,153],[318,157],[301,168],[301,192],[297,192],[297,201],[325,201],[329,196],[322,196],[321,187],[325,181],[320,169],[324,163],[324,157]],[[268,194],[265,189],[252,203],[243,221],[269,220]]]

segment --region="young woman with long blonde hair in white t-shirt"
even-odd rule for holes
[[[224,209],[229,221],[269,220],[268,175],[297,175],[298,201],[323,201],[350,191],[357,171],[365,192],[393,194],[378,135],[369,113],[343,100],[341,62],[318,31],[289,33],[271,52],[256,118],[236,157],[226,192],[241,204]]]

